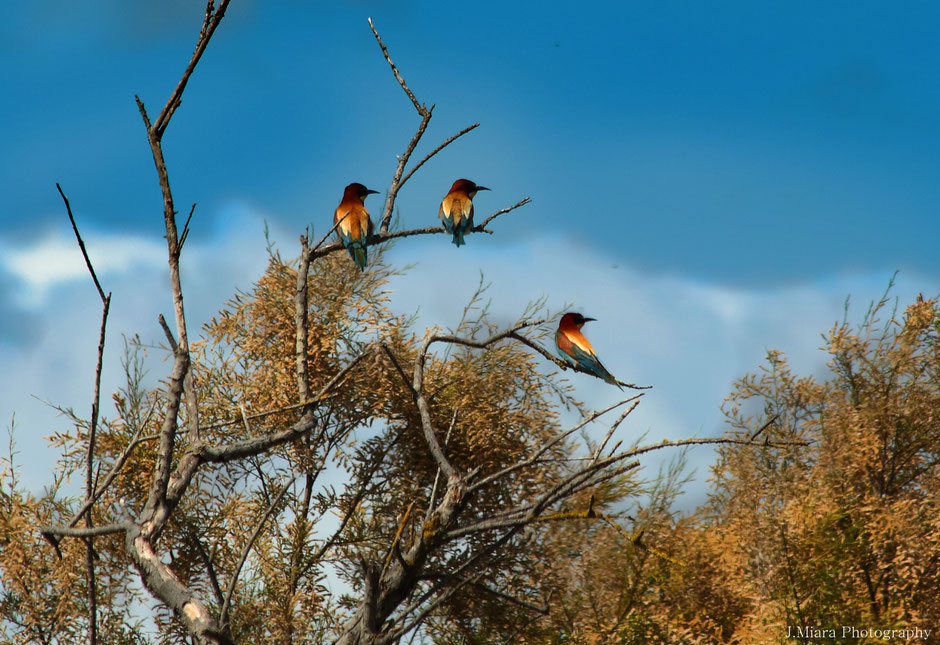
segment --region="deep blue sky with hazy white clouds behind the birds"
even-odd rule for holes
[[[161,201],[134,95],[159,112],[202,12],[52,0],[0,21],[0,361],[19,367],[0,418],[17,412],[27,461],[62,424],[28,395],[87,407],[94,367],[97,300],[56,182],[115,291],[111,383],[120,333],[160,338]],[[194,321],[257,277],[265,221],[292,255],[347,183],[387,188],[418,118],[370,16],[437,106],[419,158],[482,123],[409,182],[405,225],[433,223],[456,177],[492,188],[480,213],[533,199],[459,251],[396,246],[418,263],[397,304],[453,324],[481,269],[507,318],[543,292],[575,302],[607,366],[656,386],[641,430],[717,431],[730,380],[768,347],[819,370],[845,297],[857,319],[895,270],[902,301],[940,291],[936,3],[234,0],[165,139],[177,203],[198,203]],[[614,396],[577,382],[591,404]]]

